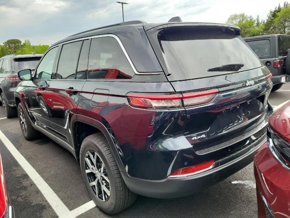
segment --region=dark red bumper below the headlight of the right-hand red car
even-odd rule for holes
[[[289,215],[290,171],[279,163],[269,146],[263,145],[254,158],[258,217],[287,217],[282,215]]]

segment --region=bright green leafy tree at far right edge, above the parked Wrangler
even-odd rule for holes
[[[284,3],[285,5],[285,3]],[[277,13],[276,18],[273,20],[273,25],[276,26],[277,33],[289,34],[290,33],[290,7],[285,7]]]

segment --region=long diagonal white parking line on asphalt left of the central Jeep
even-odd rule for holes
[[[52,209],[58,216],[63,214],[68,214],[70,211],[66,205],[59,199],[55,192],[49,187],[49,185],[43,180],[43,178],[36,172],[36,170],[29,164],[28,161],[20,154],[20,152],[14,147],[14,145],[9,141],[9,139],[0,130],[0,139],[6,148],[10,151],[16,161],[24,169],[27,175],[35,183],[37,188],[43,194],[45,199],[48,201]],[[72,216],[71,216],[72,217]]]

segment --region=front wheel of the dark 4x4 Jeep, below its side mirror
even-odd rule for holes
[[[39,132],[35,130],[33,126],[31,125],[22,103],[18,104],[18,119],[19,119],[19,124],[20,124],[22,134],[24,135],[25,139],[27,140],[36,139],[38,137]],[[26,124],[26,131],[24,129],[25,124]]]

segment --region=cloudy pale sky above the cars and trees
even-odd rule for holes
[[[124,20],[225,23],[231,14],[266,19],[284,0],[126,0]],[[69,35],[122,22],[116,0],[0,0],[0,44],[16,38],[51,45]]]

